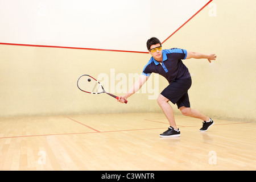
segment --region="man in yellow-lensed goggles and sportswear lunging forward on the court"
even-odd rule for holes
[[[177,129],[174,113],[168,101],[177,104],[178,109],[183,115],[202,119],[203,127],[200,131],[207,131],[213,125],[213,120],[199,111],[191,109],[188,97],[188,89],[191,87],[191,76],[188,68],[181,60],[191,58],[208,59],[211,63],[212,60],[216,60],[216,55],[188,52],[185,49],[179,48],[162,50],[162,44],[157,38],[151,38],[147,41],[147,49],[148,53],[152,56],[150,61],[144,67],[139,80],[118,101],[123,103],[132,94],[141,89],[141,86],[148,80],[151,73],[158,73],[169,82],[167,88],[163,90],[157,99],[159,106],[170,123],[168,130],[160,134],[160,137],[180,137],[180,130]]]

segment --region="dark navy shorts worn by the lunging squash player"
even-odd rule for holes
[[[190,107],[188,89],[191,87],[191,77],[172,81],[161,93],[162,96],[168,98],[172,104],[177,104],[177,107]]]

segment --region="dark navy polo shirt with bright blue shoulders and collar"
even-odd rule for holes
[[[165,77],[169,83],[176,79],[191,77],[188,68],[181,61],[187,57],[187,51],[185,49],[164,49],[162,54],[162,64],[156,61],[154,57],[151,57],[143,69],[143,75],[150,76],[151,73],[158,73]]]

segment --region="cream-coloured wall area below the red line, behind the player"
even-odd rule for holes
[[[215,6],[205,7],[171,36],[163,47],[216,53],[218,57],[213,64],[207,60],[184,61],[192,73],[193,82],[189,89],[191,106],[213,118],[255,122],[256,1],[214,0],[213,3]],[[152,5],[151,15],[160,12],[157,3]],[[153,7],[156,11],[152,10]],[[1,22],[5,18],[7,24],[9,19],[6,16],[1,15],[0,18]],[[162,30],[166,31],[165,28],[157,28],[157,22],[152,23],[156,23],[156,28],[151,28],[157,32],[154,36],[159,37]],[[24,28],[22,24],[20,28]],[[3,30],[1,27],[0,31]],[[5,38],[3,34],[0,36]],[[163,38],[160,39],[163,41]],[[144,48],[146,40],[143,40]],[[129,78],[130,74],[141,73],[149,59],[150,55],[146,53],[0,45],[0,116],[162,112],[156,100],[149,97],[154,95],[149,90],[134,94],[125,105],[106,94],[95,96],[83,93],[76,86],[77,78],[82,74],[95,77],[105,74],[110,86],[115,83],[115,89],[110,88],[110,91],[122,95],[123,90],[117,89],[119,76]],[[154,74],[151,77],[155,78]],[[153,80],[149,86],[155,86],[155,91],[160,93],[167,84],[159,76],[159,81]],[[175,113],[180,113],[176,105],[173,107]]]

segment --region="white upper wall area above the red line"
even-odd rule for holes
[[[147,51],[208,1],[0,0],[0,43]]]

